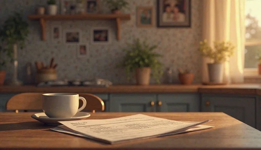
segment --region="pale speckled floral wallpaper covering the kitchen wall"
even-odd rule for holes
[[[160,61],[163,63],[164,72],[168,67],[172,68],[174,83],[179,83],[177,69],[190,69],[195,73],[194,83],[200,82],[201,57],[197,48],[201,40],[201,3],[200,0],[192,0],[191,28],[139,28],[136,22],[136,10],[138,6],[153,6],[156,11],[156,0],[128,0],[130,9],[124,13],[131,14],[131,20],[121,22],[121,40],[116,39],[115,21],[47,21],[46,41],[42,41],[41,28],[38,21],[29,21],[29,36],[26,48],[19,50],[18,66],[19,79],[24,80],[26,63],[31,62],[35,72],[35,61],[50,62],[55,58],[57,76],[59,79],[93,79],[94,77],[104,78],[114,84],[127,84],[124,70],[116,68],[116,63],[124,56],[122,48],[126,42],[132,42],[134,38],[147,38],[148,43],[157,44],[155,50],[163,55]],[[59,1],[58,1],[59,2]],[[59,5],[59,3],[58,3]],[[22,10],[23,16],[34,14],[38,6],[46,6],[46,0],[1,0],[0,25],[9,15],[16,10]],[[108,13],[106,6],[102,6],[102,13]],[[63,42],[51,40],[51,26],[60,25],[62,31],[70,29],[81,30],[82,44],[89,44],[89,55],[85,58],[76,56],[77,45],[66,45]],[[108,45],[93,45],[90,42],[90,31],[93,27],[106,27],[111,32],[111,43]],[[8,64],[6,69],[7,78],[12,77],[13,66]],[[162,83],[165,75],[162,76]],[[134,80],[130,81],[134,83]],[[155,83],[151,79],[151,83]]]

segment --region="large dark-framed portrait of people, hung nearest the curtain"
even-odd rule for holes
[[[191,0],[158,0],[157,26],[190,27]]]

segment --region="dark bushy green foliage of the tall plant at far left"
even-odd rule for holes
[[[20,49],[25,47],[25,40],[28,36],[28,23],[23,21],[20,13],[15,12],[13,16],[8,17],[0,28],[0,39],[3,47],[0,46],[0,70],[5,66],[6,59],[3,54],[6,54],[11,60],[13,57],[13,46],[17,44]]]

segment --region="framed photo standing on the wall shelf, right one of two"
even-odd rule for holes
[[[100,0],[85,0],[86,13],[100,13]]]

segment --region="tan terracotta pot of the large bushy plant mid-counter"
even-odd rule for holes
[[[137,85],[149,85],[150,84],[150,67],[137,68],[135,70],[136,74],[136,84]]]

